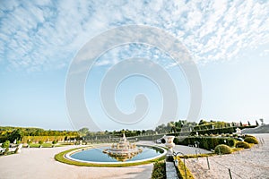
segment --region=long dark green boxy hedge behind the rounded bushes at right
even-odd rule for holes
[[[236,140],[230,137],[187,137],[187,138],[175,138],[174,143],[178,145],[194,145],[195,141],[199,142],[199,148],[202,149],[215,149],[219,144],[227,144],[230,147],[234,147]],[[226,142],[225,142],[226,141]],[[198,147],[198,146],[197,146]]]

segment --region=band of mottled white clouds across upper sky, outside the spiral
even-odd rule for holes
[[[67,66],[90,38],[126,24],[168,30],[197,63],[228,60],[239,55],[241,48],[268,44],[268,12],[268,2],[257,1],[4,1],[0,60],[8,68],[58,69]],[[120,55],[124,56],[115,52],[113,59]],[[108,59],[98,63],[108,64]]]

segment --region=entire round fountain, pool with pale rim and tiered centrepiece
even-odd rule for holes
[[[68,150],[67,150],[68,151]],[[139,145],[126,140],[126,135],[117,143],[103,146],[90,146],[82,149],[74,149],[63,154],[67,161],[75,161],[77,164],[108,166],[125,166],[126,163],[138,164],[143,161],[152,161],[166,155],[166,149],[158,146]]]

